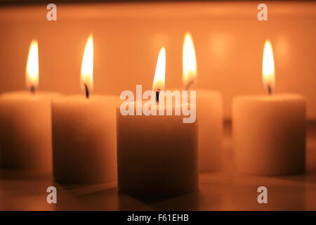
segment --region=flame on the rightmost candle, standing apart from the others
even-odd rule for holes
[[[271,94],[275,87],[275,60],[269,40],[265,41],[263,49],[262,79],[263,85],[268,89],[268,93]]]

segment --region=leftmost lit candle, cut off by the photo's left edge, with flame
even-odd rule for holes
[[[37,91],[38,83],[38,44],[33,40],[26,68],[29,91],[0,97],[0,164],[4,169],[51,172],[51,98],[58,94]]]

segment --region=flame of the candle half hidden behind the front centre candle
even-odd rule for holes
[[[183,86],[189,89],[197,79],[197,58],[191,34],[187,32],[183,41]]]

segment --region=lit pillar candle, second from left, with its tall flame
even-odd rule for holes
[[[62,184],[93,184],[116,179],[114,96],[91,96],[93,37],[84,50],[81,87],[85,96],[52,102],[53,174]]]

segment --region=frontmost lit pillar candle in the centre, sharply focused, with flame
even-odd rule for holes
[[[158,101],[162,101],[165,65],[162,48],[152,88]],[[160,108],[157,103],[157,111],[175,111],[183,104],[166,103]],[[137,113],[144,105],[136,101],[129,106]],[[181,115],[122,115],[117,108],[117,158],[118,186],[124,193],[165,197],[196,191],[197,123],[183,123]]]

